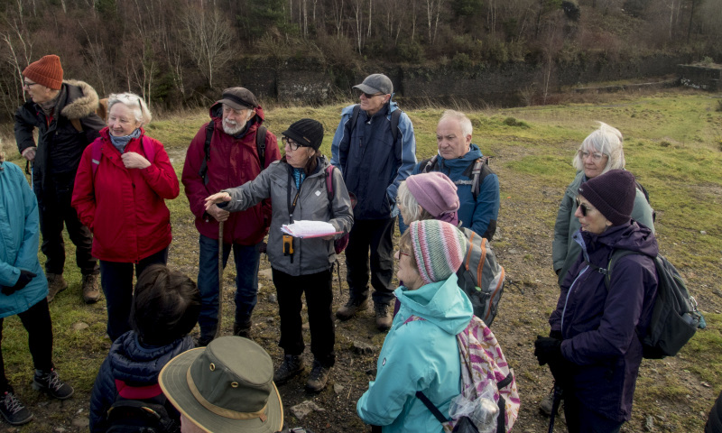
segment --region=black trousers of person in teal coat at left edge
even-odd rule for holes
[[[5,296],[5,295],[0,295]],[[23,327],[28,331],[28,345],[32,364],[35,369],[49,372],[52,368],[52,322],[51,311],[48,309],[48,299],[41,299],[30,309],[17,315],[23,322]],[[3,340],[3,322],[0,318],[0,345]],[[6,391],[13,391],[13,387],[5,377],[5,361],[3,351],[0,348],[0,394]]]

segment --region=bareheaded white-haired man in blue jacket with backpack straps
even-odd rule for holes
[[[458,220],[462,227],[470,228],[478,235],[490,240],[496,231],[496,217],[499,215],[499,178],[483,160],[478,146],[471,143],[473,132],[467,115],[446,110],[436,127],[438,155],[421,161],[412,174],[440,171],[457,186]],[[475,185],[474,170],[478,169],[478,187]],[[475,188],[478,188],[475,191]]]

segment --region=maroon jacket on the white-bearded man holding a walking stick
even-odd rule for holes
[[[255,132],[264,123],[264,110],[256,108],[256,115],[248,121],[241,138],[234,138],[223,132],[222,105],[210,107],[211,122],[215,123],[210,142],[208,160],[208,184],[199,176],[200,165],[205,158],[203,147],[206,143],[206,124],[190,142],[183,165],[181,180],[185,187],[190,211],[196,216],[196,228],[201,235],[218,239],[218,221],[206,213],[204,199],[221,189],[235,188],[256,176],[281,159],[276,136],[269,131],[265,135],[265,167],[261,167],[255,147]],[[264,240],[271,224],[271,201],[249,207],[243,212],[233,212],[224,226],[224,242],[227,244],[254,245]]]

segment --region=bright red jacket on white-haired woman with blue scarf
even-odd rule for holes
[[[96,173],[91,161],[96,142],[80,159],[72,205],[93,232],[92,252],[100,260],[138,263],[171,244],[171,213],[163,199],[178,197],[180,186],[162,143],[148,138],[155,155],[145,169],[125,168],[107,128],[96,139],[102,143]],[[144,155],[141,139],[131,140],[125,152]]]

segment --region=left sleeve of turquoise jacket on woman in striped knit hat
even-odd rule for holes
[[[425,390],[431,382],[426,351],[430,350],[426,336],[400,327],[393,339],[396,343],[388,352],[382,350],[377,364],[376,380],[369,382],[368,391],[356,402],[358,416],[375,426],[393,423],[410,398],[418,390]],[[388,336],[387,336],[388,338]],[[383,359],[382,359],[383,357]]]

